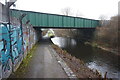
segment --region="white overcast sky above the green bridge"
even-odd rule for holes
[[[5,0],[0,0],[5,1]],[[72,15],[98,19],[105,15],[108,19],[118,14],[120,0],[17,0],[16,9],[44,13],[62,14],[62,9],[70,7]]]

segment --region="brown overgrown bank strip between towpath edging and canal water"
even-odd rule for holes
[[[71,56],[67,51],[62,50],[57,45],[51,45],[58,55],[67,63],[71,70],[75,73],[79,79],[101,79],[101,74],[96,70],[93,72],[89,69],[85,63],[77,59],[75,56]]]

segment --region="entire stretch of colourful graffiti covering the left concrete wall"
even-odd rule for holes
[[[21,27],[18,24],[10,25],[10,27],[9,29],[9,25],[0,24],[0,77],[2,78],[9,77],[37,41],[32,26],[23,25]]]

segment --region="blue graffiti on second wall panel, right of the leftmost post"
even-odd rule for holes
[[[12,26],[12,56],[13,62],[18,61],[20,54],[23,53],[23,45],[22,45],[22,34],[21,29],[18,26]]]

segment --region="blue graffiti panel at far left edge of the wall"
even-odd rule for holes
[[[10,56],[10,37],[7,25],[1,25],[1,66],[2,76],[8,76],[12,71],[11,56]]]

